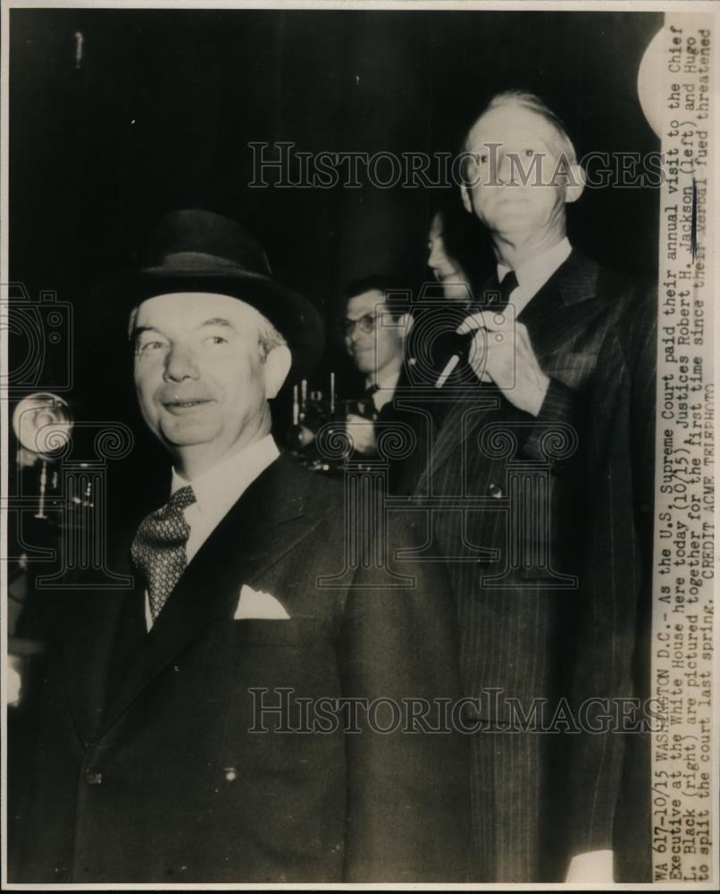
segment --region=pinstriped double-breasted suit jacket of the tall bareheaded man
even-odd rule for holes
[[[652,468],[649,291],[573,252],[519,320],[551,379],[540,415],[491,384],[448,393],[415,490],[446,498],[432,550],[449,560],[466,692],[481,696],[477,881],[562,880],[573,854],[612,847],[620,737],[523,732],[507,699],[526,716],[545,700],[550,721],[566,698],[577,720],[586,697],[636,694],[649,579],[652,487],[639,472]]]

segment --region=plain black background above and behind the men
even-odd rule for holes
[[[172,208],[246,223],[331,334],[348,280],[427,274],[440,190],[251,190],[250,141],[455,152],[490,96],[521,88],[557,110],[579,156],[659,149],[636,80],[660,13],[13,10],[10,22],[10,276],[73,308],[63,343],[80,417],[132,420],[123,321],[89,287],[133,263]],[[655,274],[656,190],[586,190],[569,227],[599,261]],[[318,381],[347,372],[333,345]],[[27,350],[13,347],[11,369]],[[60,350],[38,385],[60,381],[63,362]]]

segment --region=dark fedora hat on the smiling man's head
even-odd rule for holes
[[[165,215],[150,235],[143,265],[109,277],[101,291],[128,310],[172,292],[230,295],[260,311],[285,337],[291,377],[309,373],[322,355],[324,328],[314,306],[272,278],[264,249],[250,232],[212,211]]]

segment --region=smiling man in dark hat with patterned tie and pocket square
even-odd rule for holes
[[[111,296],[172,484],[116,538],[135,586],[73,595],[12,881],[462,880],[467,742],[415,722],[459,692],[441,569],[389,568],[407,524],[348,564],[343,489],[270,434],[268,401],[322,350],[317,312],[195,210]]]

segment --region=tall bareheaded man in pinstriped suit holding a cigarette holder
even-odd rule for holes
[[[417,493],[448,500],[434,532],[451,557],[464,683],[487,696],[474,718],[473,878],[612,881],[615,851],[616,876],[641,881],[647,815],[618,806],[640,739],[624,748],[599,712],[642,693],[652,290],[570,245],[582,170],[540,98],[492,99],[464,150],[462,199],[490,232],[497,277],[461,326],[477,382],[448,395]],[[640,769],[625,798],[640,810],[647,779]],[[638,831],[629,869],[623,826]]]

